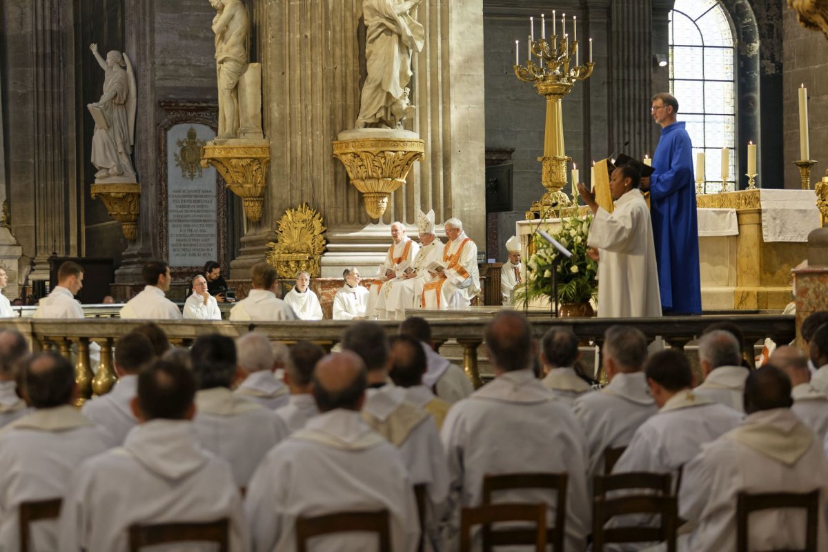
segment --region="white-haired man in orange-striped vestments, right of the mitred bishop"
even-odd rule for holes
[[[421,307],[424,309],[456,309],[471,305],[480,293],[477,266],[477,245],[463,232],[459,218],[449,218],[443,226],[449,242],[431,280],[423,286]]]

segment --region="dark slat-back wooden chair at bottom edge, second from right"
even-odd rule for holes
[[[666,542],[667,552],[676,551],[678,504],[671,492],[669,473],[614,473],[596,476],[594,481],[593,550],[601,552],[604,545],[623,542]],[[648,491],[649,494],[628,494],[607,498],[613,491]],[[627,514],[660,515],[658,527],[626,526],[604,528],[614,516]]]

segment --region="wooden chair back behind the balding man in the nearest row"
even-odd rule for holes
[[[343,511],[325,516],[300,517],[296,520],[296,552],[307,552],[307,541],[331,533],[363,531],[377,533],[379,552],[391,552],[388,510]]]

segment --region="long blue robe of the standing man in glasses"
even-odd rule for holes
[[[684,122],[662,129],[652,156],[655,172],[650,177],[650,215],[662,309],[678,314],[701,313],[692,147]]]

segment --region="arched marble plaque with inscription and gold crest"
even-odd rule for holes
[[[218,257],[216,173],[202,169],[200,150],[215,132],[184,123],[167,131],[167,237],[170,266],[203,266]]]

